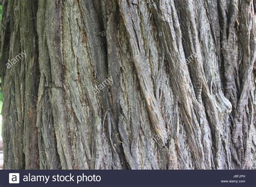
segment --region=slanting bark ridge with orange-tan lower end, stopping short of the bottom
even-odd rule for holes
[[[153,129],[156,134],[161,137],[159,142],[160,146],[165,146],[167,133],[165,130],[163,117],[160,114],[159,105],[157,104],[156,98],[154,97],[150,67],[148,66],[148,63],[144,62],[146,58],[142,37],[140,35],[140,25],[137,12],[134,10],[134,5],[127,4],[125,1],[120,2],[119,5],[127,33],[129,35],[132,55],[134,57],[134,66],[137,71],[140,88],[142,89],[143,96],[146,100],[147,109],[150,114]],[[131,7],[129,8],[129,6]],[[131,15],[133,15],[133,17],[131,17]]]

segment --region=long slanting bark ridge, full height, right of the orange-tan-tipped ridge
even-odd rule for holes
[[[191,148],[193,159],[197,160],[198,163],[204,163],[203,146],[200,143],[201,131],[198,121],[195,120],[196,116],[191,102],[193,101],[194,96],[192,96],[191,91],[188,90],[190,80],[188,80],[183,71],[178,71],[180,64],[185,62],[185,55],[181,42],[181,30],[177,11],[173,1],[169,3],[154,3],[156,8],[154,15],[157,20],[159,31],[163,31],[164,33],[161,42],[172,73],[170,74],[170,77],[172,86],[174,87],[173,90],[175,90],[174,94],[179,98],[179,107],[183,114],[184,123],[187,131],[190,133],[190,135],[188,135],[188,139],[190,140],[188,143]],[[171,15],[169,12],[172,12]],[[166,41],[171,42],[167,43]],[[182,93],[185,92],[188,94],[183,95]],[[200,164],[200,166],[197,163],[195,164],[196,168],[205,168],[204,164]]]

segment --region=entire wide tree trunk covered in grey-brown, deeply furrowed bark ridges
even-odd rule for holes
[[[2,25],[4,169],[255,169],[253,1],[5,0]]]

